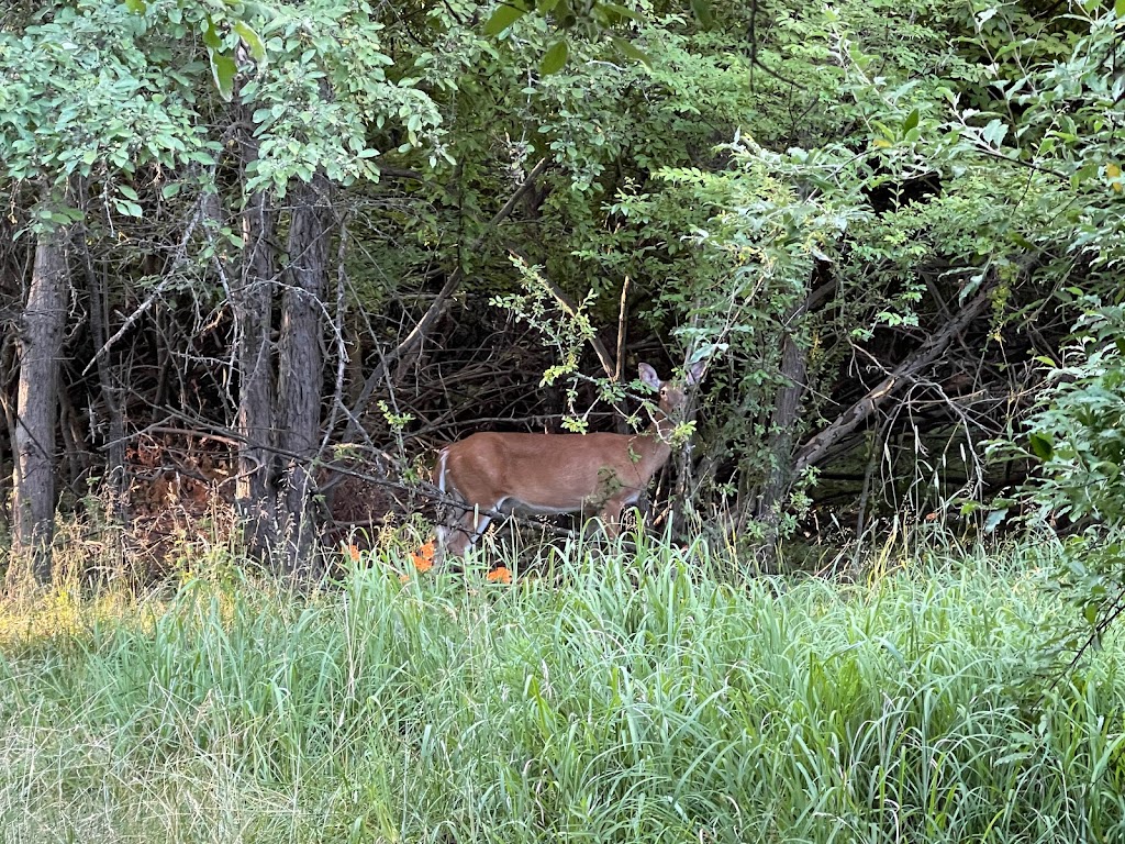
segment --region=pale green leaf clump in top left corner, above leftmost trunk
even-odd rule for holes
[[[0,34],[0,174],[63,183],[146,164],[213,163],[218,145],[192,91],[200,68],[179,63],[182,55],[153,36],[152,17],[108,0]],[[128,200],[118,197],[123,213],[137,216]]]

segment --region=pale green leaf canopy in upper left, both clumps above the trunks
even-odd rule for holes
[[[364,2],[318,0],[299,8],[256,5],[222,18],[225,3],[160,0],[130,10],[111,0],[64,8],[48,23],[0,38],[0,142],[7,176],[65,180],[148,164],[213,165],[200,83],[214,79],[224,99],[253,108],[259,161],[248,190],[284,194],[291,178],[323,170],[340,185],[378,179],[382,152],[369,134],[402,127],[399,151],[425,143],[440,151],[441,116],[415,84],[388,79],[379,48],[382,25]],[[206,66],[190,34],[201,30]],[[225,34],[224,34],[225,33]],[[240,69],[236,51],[248,50]],[[397,74],[396,74],[397,75]],[[128,199],[128,197],[126,197]],[[140,206],[124,205],[137,216]]]

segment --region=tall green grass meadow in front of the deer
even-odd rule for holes
[[[10,604],[0,836],[1125,841],[1122,647],[1042,675],[1050,554],[848,584],[564,548],[512,585],[364,555]]]

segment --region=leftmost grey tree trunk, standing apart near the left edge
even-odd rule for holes
[[[55,436],[58,369],[70,286],[66,235],[39,234],[32,287],[19,327],[16,408],[15,544],[29,554],[39,583],[51,580],[55,515]]]

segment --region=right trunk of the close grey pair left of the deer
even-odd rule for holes
[[[279,451],[285,460],[282,513],[286,566],[290,574],[310,565],[315,524],[313,461],[321,440],[324,387],[324,289],[327,281],[331,205],[321,174],[292,191],[289,271],[281,300],[278,363]]]

